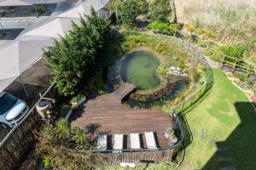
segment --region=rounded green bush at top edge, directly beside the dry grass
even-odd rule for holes
[[[151,20],[168,22],[172,15],[172,8],[169,0],[152,0],[149,2],[148,10]]]

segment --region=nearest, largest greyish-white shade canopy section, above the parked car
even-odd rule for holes
[[[46,37],[21,37],[0,53],[0,92],[19,77],[43,54],[42,48],[53,40]]]

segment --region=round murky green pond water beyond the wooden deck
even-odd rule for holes
[[[159,86],[156,70],[160,61],[145,50],[127,54],[121,64],[121,77],[124,82],[137,85],[138,90],[153,89]]]

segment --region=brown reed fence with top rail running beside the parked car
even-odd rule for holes
[[[49,93],[53,86],[54,84],[46,90],[44,95],[38,99],[38,102]],[[38,105],[38,102],[36,105]],[[22,157],[26,156],[32,144],[34,144],[35,138],[33,132],[38,123],[38,114],[35,111],[36,105],[32,106],[32,109],[24,119],[13,127],[0,143],[0,170],[15,169]]]

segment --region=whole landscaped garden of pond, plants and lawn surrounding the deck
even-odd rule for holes
[[[215,43],[216,32],[210,27],[177,23],[170,1],[116,0],[110,8],[118,9],[113,20],[99,18],[91,9],[90,16],[73,23],[66,36],[44,48],[44,59],[55,75],[58,120],[37,132],[36,150],[32,151],[35,164],[45,169],[95,168],[103,161],[101,156],[75,150],[95,150],[96,140],[90,132],[72,129],[64,118],[77,109],[81,99],[94,99],[113,92],[123,82],[132,82],[137,90],[123,100],[125,107],[161,110],[171,116],[176,112],[182,118],[186,155],[178,168],[253,167],[256,160],[247,159],[253,157],[255,145],[250,131],[254,128],[253,105],[227,78],[237,77],[241,86],[253,91],[251,73],[225,77],[219,69],[212,71],[192,43],[218,61],[219,56],[247,59],[251,51],[241,44]],[[242,162],[236,150],[241,151]],[[147,169],[173,169],[179,163]]]

